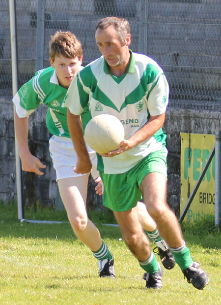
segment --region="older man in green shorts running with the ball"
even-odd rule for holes
[[[102,56],[73,79],[63,104],[69,108],[68,126],[78,155],[75,171],[91,170],[79,117],[84,107],[89,105],[92,117],[115,115],[124,124],[125,139],[119,149],[98,159],[104,205],[113,210],[128,248],[145,270],[147,288],[162,287],[162,269],[138,219],[136,204],[141,195],[188,282],[203,289],[208,275],[193,262],[177,218],[166,203],[167,150],[162,126],[169,89],[164,72],[151,58],[129,49],[127,20],[100,20],[95,37]],[[130,119],[137,124],[128,124]]]

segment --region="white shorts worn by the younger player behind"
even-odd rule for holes
[[[95,179],[99,177],[97,155],[87,144],[86,147],[92,162],[91,175]],[[49,150],[53,160],[53,166],[56,170],[56,180],[87,175],[74,171],[78,158],[71,138],[66,136],[52,136],[49,140]]]

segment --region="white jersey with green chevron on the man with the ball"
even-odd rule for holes
[[[71,82],[62,105],[75,115],[81,114],[89,105],[92,117],[102,113],[116,116],[124,126],[125,139],[146,124],[150,115],[166,111],[169,94],[162,68],[153,59],[130,52],[129,67],[120,78],[111,75],[103,56],[87,65]],[[163,149],[165,141],[166,135],[160,129],[122,154],[112,158],[99,157],[98,169],[109,174],[125,172],[151,152]]]

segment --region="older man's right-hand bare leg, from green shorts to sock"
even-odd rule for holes
[[[183,245],[183,235],[175,214],[166,203],[166,177],[158,172],[147,174],[141,182],[143,201],[150,216],[156,221],[161,236],[169,247]]]

